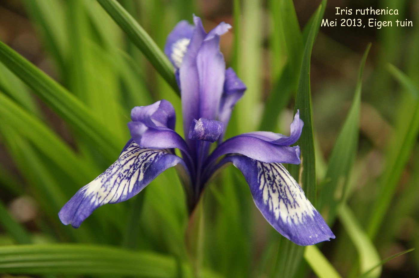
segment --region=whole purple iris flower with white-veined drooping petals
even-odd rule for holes
[[[290,147],[303,129],[299,112],[290,136],[253,132],[223,140],[233,107],[246,86],[231,68],[225,69],[220,52],[220,36],[231,26],[222,22],[206,33],[200,18],[194,17],[194,23],[179,22],[164,48],[181,91],[184,138],[174,131],[176,116],[170,102],[162,99],[134,107],[128,123],[132,138],[114,164],[64,205],[59,212],[62,223],[77,228],[99,206],[133,197],[175,165],[191,211],[217,169],[232,163],[243,173],[262,215],[287,239],[311,245],[334,238],[281,164],[300,163],[300,148]],[[210,152],[214,143],[217,147]]]

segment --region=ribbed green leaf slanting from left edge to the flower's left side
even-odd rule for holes
[[[3,42],[0,42],[0,61],[59,116],[92,143],[97,144],[103,155],[110,161],[114,160],[115,153],[121,148],[121,142],[110,136],[110,129],[104,127],[75,96]]]

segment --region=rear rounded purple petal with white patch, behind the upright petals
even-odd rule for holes
[[[193,31],[194,26],[183,20],[176,24],[175,28],[167,36],[164,53],[175,69],[178,69],[182,63]]]

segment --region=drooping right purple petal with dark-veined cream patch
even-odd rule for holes
[[[253,201],[280,234],[295,244],[313,245],[335,236],[305,197],[295,179],[279,163],[264,163],[246,156],[229,156],[249,184]]]

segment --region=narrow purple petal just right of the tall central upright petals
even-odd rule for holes
[[[237,77],[234,70],[232,68],[225,70],[224,92],[221,96],[220,111],[218,112],[218,120],[223,123],[224,131],[227,128],[234,105],[243,96],[244,91],[246,91],[246,85]]]

